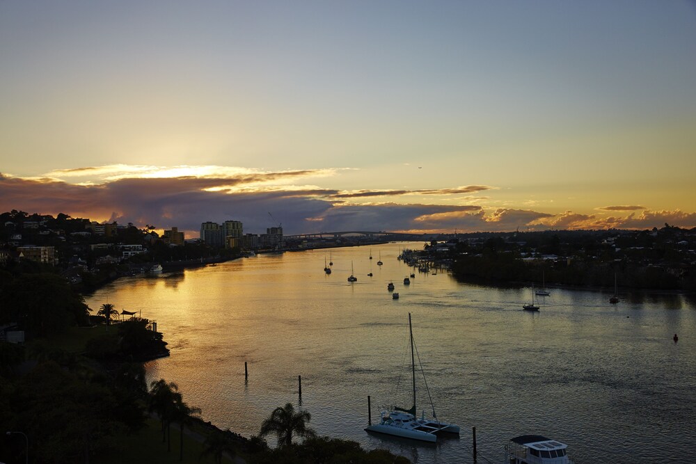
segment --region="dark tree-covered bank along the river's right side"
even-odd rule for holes
[[[460,241],[452,271],[461,280],[696,291],[693,234],[553,231],[487,234]]]

